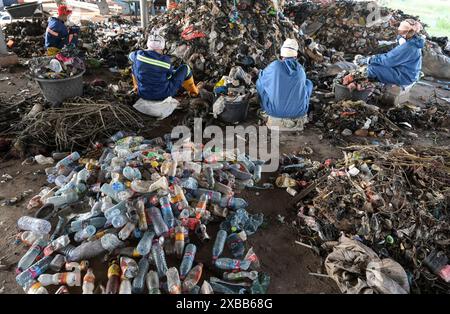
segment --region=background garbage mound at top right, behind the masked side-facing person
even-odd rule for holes
[[[392,48],[401,21],[417,19],[386,7],[379,7],[378,16],[375,6],[378,4],[373,1],[338,0],[320,4],[303,0],[288,5],[285,15],[304,34],[327,47],[350,55],[373,55]]]

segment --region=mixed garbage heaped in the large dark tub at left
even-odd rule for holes
[[[38,57],[29,61],[30,74],[34,78],[64,79],[86,70],[78,49],[64,47],[55,57]]]

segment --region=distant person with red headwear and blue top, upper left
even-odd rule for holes
[[[65,23],[72,11],[65,5],[58,7],[58,16],[51,17],[45,32],[45,48],[48,56],[55,56],[67,44],[76,44],[78,27],[68,28]]]

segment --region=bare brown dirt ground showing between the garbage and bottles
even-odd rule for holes
[[[2,81],[1,78],[9,77],[9,80]],[[86,78],[95,78],[96,75]],[[15,85],[10,85],[14,82]],[[429,83],[429,82],[428,82]],[[30,93],[37,90],[37,87],[27,82],[23,69],[14,70],[13,73],[0,73],[0,95],[17,95],[20,90],[27,88]],[[420,103],[419,97],[429,96],[433,88],[425,85],[418,85],[413,91],[413,102]],[[450,97],[448,91],[440,91],[443,97]],[[161,127],[152,131],[155,136],[167,133],[174,125],[176,118],[169,118],[167,123],[162,123]],[[158,134],[159,133],[159,134]],[[327,139],[322,139],[322,130],[309,126],[302,133],[284,133],[280,137],[281,153],[298,151],[304,146],[309,146],[314,150],[311,156],[315,160],[325,160],[327,158],[341,157],[339,148],[334,147]],[[449,144],[448,134],[440,134],[436,137],[421,134],[419,139],[414,140],[414,144],[443,145]],[[44,166],[22,165],[20,160],[9,160],[0,163],[0,181],[4,174],[13,177],[7,182],[0,183],[0,202],[2,199],[10,199],[21,195],[23,191],[32,190],[23,197],[21,201],[12,206],[0,206],[0,264],[10,265],[8,269],[0,269],[0,292],[2,293],[23,293],[23,290],[15,282],[15,265],[26,249],[23,245],[15,245],[14,237],[18,230],[16,221],[22,215],[32,215],[28,212],[26,204],[28,200],[47,184],[43,171]],[[275,174],[267,174],[263,182],[272,182]],[[271,276],[269,293],[339,293],[336,284],[323,277],[312,276],[309,273],[321,272],[321,258],[311,250],[298,246],[295,230],[292,222],[296,213],[287,209],[287,203],[291,196],[282,189],[269,191],[244,191],[240,194],[249,202],[249,212],[262,212],[265,216],[264,225],[249,236],[248,248],[253,246],[262,263],[262,270]],[[277,216],[285,217],[285,222],[281,223]],[[209,233],[214,239],[217,225],[208,226]],[[195,242],[195,241],[194,241]],[[205,263],[206,277],[215,274],[211,267],[210,254],[213,241],[200,246],[196,261]],[[179,261],[168,260],[169,266],[178,266]],[[97,277],[96,284],[100,282],[106,285],[106,267],[100,263],[95,267]],[[74,291],[75,292],[75,291]]]

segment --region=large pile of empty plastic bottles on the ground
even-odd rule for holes
[[[200,149],[184,146],[184,152]],[[270,277],[258,271],[253,249],[246,250],[263,215],[249,214],[233,192],[259,181],[263,162],[239,154],[219,162],[218,152],[202,155],[202,162],[180,161],[172,147],[169,136],[146,140],[118,132],[100,148],[100,158],[74,152],[47,168],[56,187],[30,203],[50,214],[18,220],[18,242],[29,246],[16,277],[25,292],[44,294],[59,285],[56,293],[72,286],[84,294],[265,293]],[[210,239],[211,222],[220,222],[211,269],[223,277],[200,285],[204,265],[195,256]],[[170,255],[178,267],[167,265]],[[105,257],[106,287],[89,267],[98,256]]]

